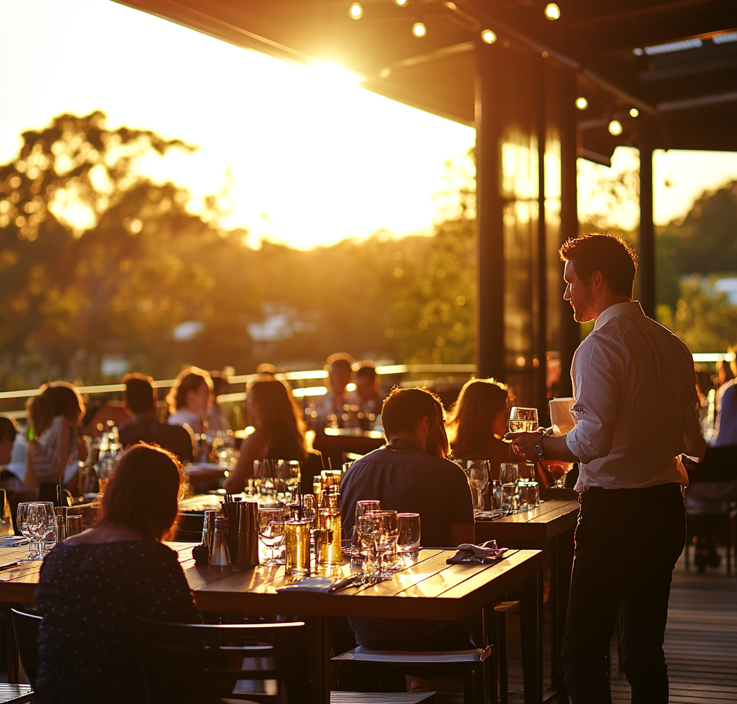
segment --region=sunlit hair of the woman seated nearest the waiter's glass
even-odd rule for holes
[[[464,384],[446,423],[456,456],[472,459],[489,455],[494,420],[506,409],[508,398],[506,385],[493,379],[472,379]]]

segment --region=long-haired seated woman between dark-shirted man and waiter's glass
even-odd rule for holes
[[[509,391],[493,379],[467,381],[446,422],[448,441],[459,460],[488,459],[492,479],[502,462],[519,462],[502,441],[508,430]]]

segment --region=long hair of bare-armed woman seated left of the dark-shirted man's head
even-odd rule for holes
[[[278,380],[254,381],[248,389],[256,427],[266,439],[265,456],[304,459],[304,421],[290,388]]]

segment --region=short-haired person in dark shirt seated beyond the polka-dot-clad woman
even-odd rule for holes
[[[136,442],[153,443],[170,450],[183,462],[195,461],[197,453],[192,433],[181,425],[159,422],[156,417],[156,391],[151,382],[151,377],[135,372],[123,377],[125,407],[133,418],[120,426],[120,442],[123,447]]]

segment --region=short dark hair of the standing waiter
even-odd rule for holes
[[[584,285],[590,285],[594,271],[601,271],[612,293],[632,297],[637,255],[621,237],[610,233],[569,237],[559,254],[562,262],[573,262],[573,270]]]

